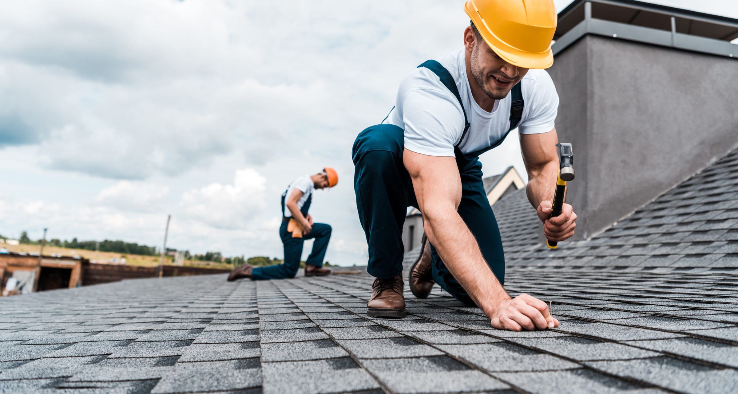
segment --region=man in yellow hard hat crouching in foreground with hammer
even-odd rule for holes
[[[404,317],[402,224],[412,205],[427,239],[410,270],[410,290],[426,298],[440,285],[492,326],[510,330],[558,326],[546,304],[503,288],[500,231],[482,183],[478,156],[517,127],[528,171],[528,200],[545,235],[573,235],[576,214],[565,204],[551,218],[559,173],[559,97],[543,68],[554,63],[552,0],[469,0],[463,48],[418,66],[402,80],[387,124],[359,133],[352,151],[359,219],[376,277],[371,317]],[[430,243],[428,243],[430,242]]]

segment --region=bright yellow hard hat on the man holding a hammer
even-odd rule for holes
[[[487,45],[506,62],[523,68],[554,64],[554,0],[469,0],[464,10]]]

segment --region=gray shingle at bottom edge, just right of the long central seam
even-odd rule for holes
[[[379,383],[350,358],[265,362],[262,370],[264,394],[344,393],[379,388]]]

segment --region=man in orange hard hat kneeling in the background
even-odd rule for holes
[[[331,225],[315,223],[308,214],[315,189],[331,188],[338,184],[338,173],[331,167],[325,167],[316,175],[303,175],[287,186],[282,194],[282,225],[279,235],[284,245],[283,264],[269,267],[252,267],[244,264],[233,270],[228,281],[238,278],[283,279],[294,278],[300,269],[300,256],[303,255],[303,242],[314,238],[313,250],[305,262],[305,276],[324,276],[331,270],[323,268],[325,250],[331,240]]]

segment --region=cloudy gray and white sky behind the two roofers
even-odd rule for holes
[[[658,3],[738,17],[731,0]],[[328,261],[364,264],[351,144],[404,74],[461,47],[462,6],[4,1],[0,234],[160,246],[172,214],[170,247],[281,258],[280,194],[333,166],[311,214],[333,225]],[[525,172],[512,134],[482,162]]]

